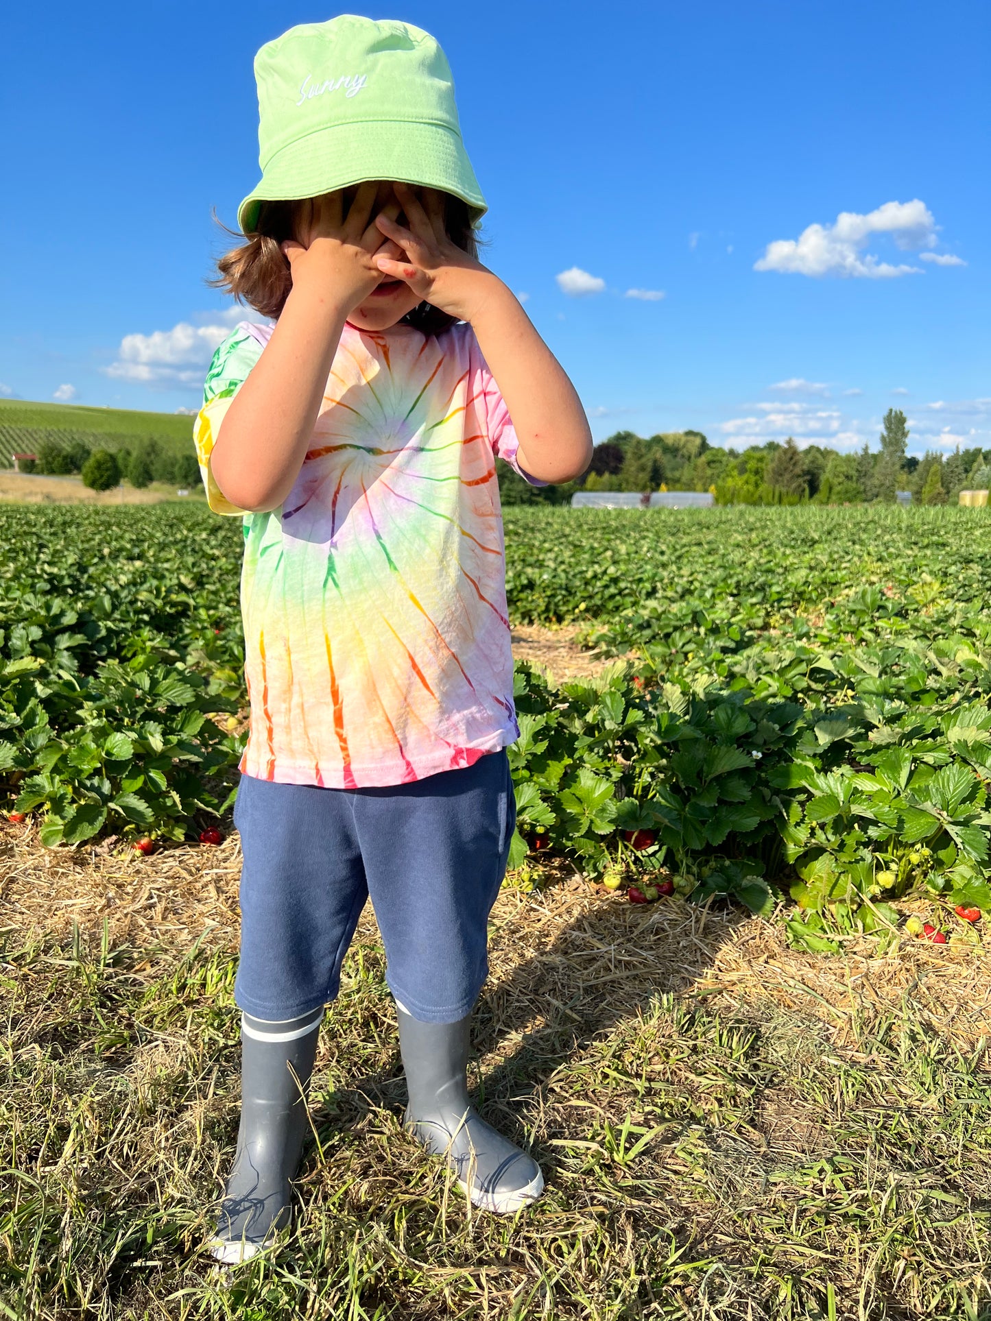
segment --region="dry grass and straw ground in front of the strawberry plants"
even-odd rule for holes
[[[314,1075],[300,1217],[234,1275],[198,1255],[237,1129],[237,836],[151,859],[0,839],[11,1317],[987,1314],[988,945],[842,958],[559,867],[506,886],[482,1108],[548,1190],[469,1214],[400,1128],[365,914]]]

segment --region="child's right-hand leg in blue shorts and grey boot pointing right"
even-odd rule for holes
[[[488,918],[506,871],[515,801],[505,752],[390,790],[359,790],[355,819],[399,1008],[407,1124],[447,1157],[476,1206],[539,1196],[536,1162],[468,1099],[469,1016],[488,975]]]

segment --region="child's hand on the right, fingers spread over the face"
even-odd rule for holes
[[[385,275],[403,280],[425,303],[460,321],[472,321],[484,304],[486,291],[501,284],[481,262],[462,251],[448,238],[444,226],[444,202],[432,188],[423,189],[423,202],[408,184],[394,184],[406,214],[408,229],[396,223],[391,207],[375,217],[375,225],[398,248],[377,252],[374,263]]]

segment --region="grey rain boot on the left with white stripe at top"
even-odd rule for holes
[[[209,1243],[218,1262],[247,1262],[292,1219],[289,1180],[307,1132],[320,1009],[284,1022],[240,1018],[240,1127],[234,1168]]]

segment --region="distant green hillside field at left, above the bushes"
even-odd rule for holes
[[[0,399],[0,466],[11,468],[11,454],[34,453],[42,441],[67,445],[74,440],[104,449],[157,440],[163,449],[192,452],[193,419],[184,413]]]

